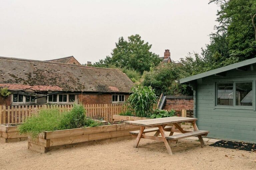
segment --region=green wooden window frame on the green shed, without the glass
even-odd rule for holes
[[[252,83],[252,93],[253,93],[253,100],[252,100],[252,106],[236,106],[236,83]],[[218,84],[221,83],[232,83],[233,84],[233,106],[229,106],[229,105],[218,105],[217,101],[218,101]],[[228,81],[228,80],[219,80],[215,82],[215,86],[214,86],[214,93],[215,93],[215,102],[214,102],[214,109],[241,109],[241,110],[256,110],[255,108],[255,92],[256,92],[256,88],[255,88],[255,80],[244,80],[242,79],[241,81],[239,81],[239,79],[234,79],[234,81]]]

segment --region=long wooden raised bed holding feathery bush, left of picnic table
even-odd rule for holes
[[[91,128],[44,131],[36,139],[31,139],[28,136],[28,149],[46,153],[60,148],[131,139],[132,136],[129,131],[138,129],[138,126],[117,124]]]

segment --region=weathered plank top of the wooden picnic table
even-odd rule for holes
[[[174,116],[174,117],[167,117],[167,118],[127,121],[124,123],[128,125],[151,127],[151,126],[158,126],[158,125],[167,125],[172,123],[190,122],[190,121],[196,121],[196,120],[197,118],[186,118],[186,117]]]

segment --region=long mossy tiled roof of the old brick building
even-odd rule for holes
[[[133,82],[118,69],[0,57],[0,87],[10,90],[130,92]]]

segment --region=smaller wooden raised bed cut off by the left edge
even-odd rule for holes
[[[19,134],[17,124],[1,124],[0,125],[0,141],[2,143],[17,142],[27,140],[27,135]]]

